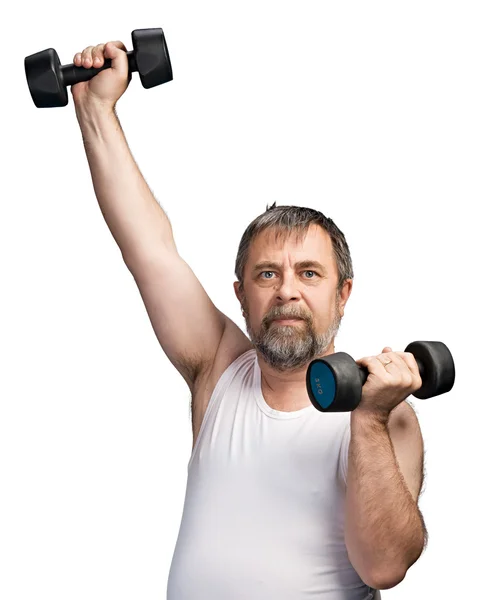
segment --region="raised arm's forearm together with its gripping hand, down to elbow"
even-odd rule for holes
[[[114,44],[115,49],[109,51],[115,57],[112,68],[73,86],[72,95],[99,206],[130,267],[135,260],[166,249],[176,251],[176,247],[168,217],[134,161],[115,112],[115,104],[128,85],[128,63],[125,46]],[[82,61],[86,56],[95,60],[103,54],[103,46],[76,54],[74,64],[93,66],[93,62]]]

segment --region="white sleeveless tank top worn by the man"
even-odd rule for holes
[[[274,410],[255,349],[221,375],[188,465],[167,600],[371,600],[344,539],[350,413]]]

